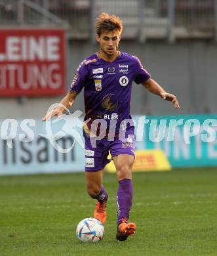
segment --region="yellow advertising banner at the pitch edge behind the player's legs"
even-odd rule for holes
[[[132,167],[133,172],[170,171],[171,169],[172,167],[163,150],[137,150],[136,151],[136,159]],[[108,171],[109,173],[116,172],[113,161],[111,161],[110,163],[108,163],[108,165],[106,165],[106,171]]]

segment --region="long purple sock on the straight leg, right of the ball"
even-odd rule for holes
[[[123,218],[127,220],[129,218],[132,207],[132,193],[132,180],[124,179],[119,181],[117,190],[117,224],[120,224]]]

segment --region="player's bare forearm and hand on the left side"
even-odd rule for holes
[[[64,96],[64,98],[60,101],[59,106],[57,106],[54,110],[47,113],[47,115],[42,118],[42,121],[50,120],[50,118],[52,116],[61,117],[62,113],[66,109],[70,108],[73,105],[73,102],[74,102],[76,97],[77,97],[76,93],[73,93],[73,92],[69,91],[68,94],[66,96]],[[66,108],[64,108],[64,106]]]

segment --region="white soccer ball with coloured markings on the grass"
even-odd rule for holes
[[[104,237],[104,226],[94,218],[86,218],[76,228],[77,237],[82,242],[99,242]]]

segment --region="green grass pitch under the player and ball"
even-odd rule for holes
[[[130,220],[136,234],[117,242],[115,175],[104,240],[84,244],[77,223],[92,217],[85,174],[0,177],[0,255],[217,255],[217,169],[134,173]]]

